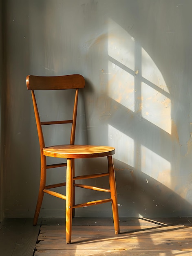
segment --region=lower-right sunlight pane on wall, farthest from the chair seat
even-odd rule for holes
[[[166,159],[157,155],[152,150],[141,145],[141,171],[146,173],[150,177],[163,183],[164,178],[166,178],[166,186],[170,187],[171,177],[170,177],[171,164]],[[161,175],[166,171],[166,177]],[[163,179],[162,179],[163,177]],[[160,179],[160,180],[159,180]]]

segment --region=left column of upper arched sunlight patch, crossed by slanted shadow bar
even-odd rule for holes
[[[134,111],[134,38],[113,20],[109,20],[108,33],[108,95]]]

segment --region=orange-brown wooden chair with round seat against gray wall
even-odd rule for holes
[[[74,209],[77,207],[86,207],[95,204],[102,204],[111,202],[113,209],[113,220],[115,227],[115,234],[119,234],[119,216],[117,207],[117,192],[115,184],[115,172],[113,166],[112,155],[115,154],[115,148],[109,146],[91,146],[91,145],[75,145],[75,126],[77,117],[77,99],[80,88],[84,88],[84,77],[79,74],[67,75],[67,76],[27,76],[26,86],[28,90],[31,90],[33,107],[35,112],[35,119],[38,130],[40,155],[41,155],[41,178],[40,189],[38,195],[38,202],[33,219],[33,225],[37,224],[38,216],[40,213],[42,200],[44,193],[53,195],[58,198],[66,200],[66,243],[71,243],[71,227],[72,218],[74,217]],[[35,90],[65,90],[75,89],[75,99],[73,108],[73,118],[65,121],[40,121],[38,112],[38,106],[35,99]],[[42,126],[52,124],[71,124],[71,138],[68,145],[57,146],[45,146]],[[65,158],[66,163],[62,164],[46,164],[46,157],[59,157]],[[83,176],[75,176],[75,158],[92,158],[92,157],[107,157],[108,159],[108,171],[106,173],[90,174]],[[46,169],[66,166],[66,182],[46,185]],[[97,177],[109,177],[110,189],[99,188],[95,186],[88,186],[83,184],[76,184],[75,180],[93,179]],[[66,186],[66,195],[54,192],[50,189],[56,187]],[[81,204],[75,204],[75,186],[84,189],[92,189],[94,191],[110,192],[110,198],[104,200],[97,200],[91,202],[85,202]]]

